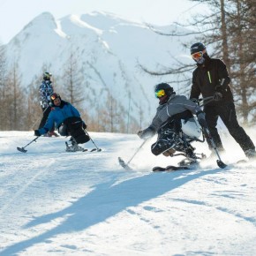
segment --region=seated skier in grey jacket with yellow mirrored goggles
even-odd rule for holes
[[[182,127],[181,120],[191,120],[193,114],[198,117],[202,128],[207,127],[205,113],[197,103],[188,100],[184,95],[177,95],[167,83],[156,85],[154,92],[159,99],[159,106],[149,127],[138,132],[139,138],[147,139],[157,132],[157,141],[151,147],[153,154],[172,156],[175,151],[180,151],[191,163],[197,162],[194,148],[185,147],[178,134]]]

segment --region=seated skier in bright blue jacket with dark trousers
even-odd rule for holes
[[[50,131],[53,125],[56,125],[58,132],[61,136],[72,136],[71,146],[66,143],[66,151],[83,151],[83,147],[79,147],[78,144],[86,143],[90,140],[84,129],[87,128],[79,114],[78,109],[74,108],[71,103],[64,102],[59,94],[51,94],[51,110],[46,124],[39,129],[34,131],[35,136],[41,136]]]

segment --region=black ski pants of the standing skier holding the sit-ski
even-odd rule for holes
[[[223,150],[222,140],[216,128],[218,117],[226,125],[230,135],[237,141],[244,152],[248,149],[255,149],[252,139],[245,133],[245,130],[237,122],[237,114],[234,102],[218,102],[216,105],[206,105],[204,108],[209,131],[219,150]],[[210,149],[212,145],[207,141]]]

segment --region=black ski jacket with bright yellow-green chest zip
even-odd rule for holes
[[[192,73],[192,89],[190,99],[198,99],[200,94],[203,98],[214,96],[215,92],[222,93],[220,102],[233,102],[230,90],[230,77],[226,65],[220,59],[207,56],[204,65],[198,67]],[[218,102],[209,102],[209,105]]]

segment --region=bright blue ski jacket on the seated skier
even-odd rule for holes
[[[80,117],[79,110],[74,108],[71,103],[61,101],[60,107],[53,106],[51,108],[46,124],[38,131],[42,135],[49,132],[53,125],[58,128],[68,117]]]

